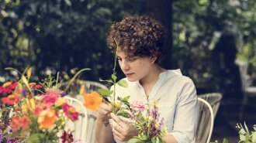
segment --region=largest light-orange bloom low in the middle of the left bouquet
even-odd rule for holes
[[[50,128],[56,121],[56,114],[54,110],[42,111],[37,119],[40,124],[40,129]]]

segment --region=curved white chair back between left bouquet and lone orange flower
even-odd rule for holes
[[[66,121],[66,127],[67,129],[70,129],[73,132],[74,139],[79,139],[81,141],[86,140],[86,134],[87,134],[87,125],[88,125],[88,113],[85,108],[85,106],[81,103],[81,101],[74,99],[72,97],[64,97],[67,100],[68,104],[71,104],[75,109],[81,114],[78,117],[78,121]]]

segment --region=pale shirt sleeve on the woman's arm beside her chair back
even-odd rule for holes
[[[199,104],[195,85],[191,79],[185,80],[177,98],[173,130],[169,133],[178,143],[192,142],[199,121]]]

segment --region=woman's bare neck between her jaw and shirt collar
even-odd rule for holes
[[[159,74],[163,73],[164,71],[166,70],[163,69],[161,66],[153,64],[152,68],[150,69],[150,72],[145,77],[140,79],[139,82],[143,87],[154,86],[154,83],[156,83],[157,80],[159,79]]]

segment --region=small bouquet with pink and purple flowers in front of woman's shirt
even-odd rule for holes
[[[164,143],[163,136],[168,131],[163,126],[164,118],[159,117],[158,108],[156,102],[151,103],[151,106],[140,101],[131,104],[130,118],[135,121],[133,124],[139,134],[131,138],[128,143]]]

